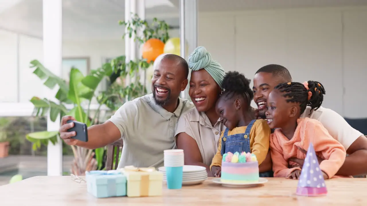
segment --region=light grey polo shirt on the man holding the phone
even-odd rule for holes
[[[179,98],[177,109],[170,113],[155,103],[153,94],[123,104],[108,120],[119,128],[124,141],[119,168],[163,166],[163,150],[176,147],[178,118],[193,107],[188,100]]]

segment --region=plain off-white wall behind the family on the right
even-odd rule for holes
[[[199,45],[226,71],[248,78],[262,66],[287,67],[294,81],[320,81],[323,106],[367,117],[367,8],[308,8],[199,14]]]

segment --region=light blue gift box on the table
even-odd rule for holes
[[[86,172],[87,191],[97,198],[126,196],[126,176],[116,170]]]

